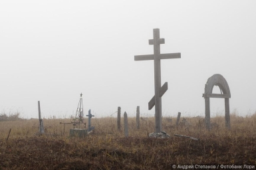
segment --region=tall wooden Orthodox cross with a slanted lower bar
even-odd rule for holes
[[[153,29],[154,39],[148,42],[154,45],[154,54],[137,55],[134,60],[154,60],[154,80],[155,80],[155,96],[148,103],[148,109],[151,110],[155,106],[155,124],[156,133],[162,131],[162,96],[168,90],[167,82],[161,87],[161,59],[181,58],[180,53],[160,54],[160,44],[164,44],[164,39],[160,39],[159,29]]]

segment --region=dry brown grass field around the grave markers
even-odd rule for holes
[[[163,118],[171,137],[148,137],[154,118],[128,118],[129,137],[118,131],[116,118],[92,118],[94,131],[85,138],[69,137],[70,120],[44,120],[44,135],[37,135],[38,120],[0,122],[0,169],[173,169],[172,165],[255,165],[256,114],[231,115],[231,129],[223,117],[211,118],[211,131],[203,118],[186,118],[190,126],[175,126],[176,118]],[[85,119],[87,122],[87,120]],[[123,123],[123,119],[121,120]],[[182,122],[182,118],[181,121]],[[7,136],[11,133],[7,141]],[[199,141],[174,134],[199,138]]]

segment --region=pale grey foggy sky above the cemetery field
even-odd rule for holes
[[[140,106],[154,116],[154,61],[148,39],[160,29],[163,116],[204,116],[207,78],[221,74],[230,111],[256,111],[255,1],[1,1],[0,114],[68,118],[83,94],[84,112],[129,117]],[[219,88],[213,88],[219,93]],[[211,98],[211,116],[224,116],[224,99]]]

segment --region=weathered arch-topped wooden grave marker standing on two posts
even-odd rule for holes
[[[213,86],[219,86],[221,94],[213,94]],[[210,124],[210,107],[209,107],[209,98],[225,98],[225,126],[230,129],[230,116],[229,116],[229,98],[231,98],[229,85],[227,81],[221,74],[214,74],[208,78],[205,88],[203,98],[205,99],[205,125],[209,130],[211,129]]]

